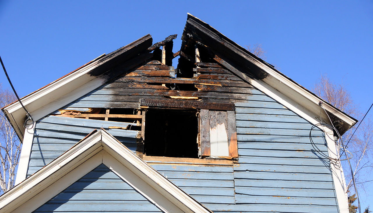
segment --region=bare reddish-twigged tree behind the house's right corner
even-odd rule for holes
[[[343,84],[336,84],[332,82],[326,74],[323,74],[320,79],[316,82],[313,91],[316,95],[320,96],[325,101],[334,105],[341,111],[351,115],[358,120],[361,120],[364,116],[359,110],[359,107],[354,104],[350,92],[345,88]],[[367,117],[364,119],[363,123],[356,130],[356,133],[352,136],[357,125],[352,127],[347,131],[341,140],[344,144],[348,143],[347,150],[352,154],[352,159],[350,159],[351,166],[353,169],[353,174],[355,177],[355,182],[358,184],[358,188],[364,190],[364,185],[372,180],[369,180],[369,175],[373,170],[373,123]],[[352,136],[352,138],[351,138]],[[351,138],[351,139],[350,139]],[[341,150],[342,151],[342,150]],[[349,155],[351,157],[351,155]],[[341,156],[341,159],[345,159],[346,156]],[[352,176],[350,171],[350,166],[347,160],[342,161],[342,169],[346,178],[345,193],[349,190],[350,194],[354,194],[354,187],[351,187]],[[351,188],[350,188],[351,187]]]

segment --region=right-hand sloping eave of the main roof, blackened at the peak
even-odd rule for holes
[[[325,102],[314,93],[280,73],[266,61],[256,57],[207,23],[189,13],[182,40],[184,45],[181,47],[181,51],[185,51],[188,48],[186,44],[194,41],[200,44],[201,47],[208,49],[210,54],[215,55],[214,60],[237,74],[243,80],[249,83],[253,79],[262,81],[316,116],[320,114],[319,102],[322,101],[323,107],[341,134],[345,133],[357,122],[356,119]],[[319,120],[320,118],[314,117],[314,119]],[[329,121],[325,113],[322,114],[322,120],[323,122]]]

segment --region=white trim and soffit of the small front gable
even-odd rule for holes
[[[211,212],[103,129],[1,195],[0,211],[32,212],[101,163],[164,212]]]

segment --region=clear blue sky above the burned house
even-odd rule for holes
[[[262,44],[267,61],[307,89],[327,73],[346,85],[362,111],[373,102],[372,0],[0,0],[0,54],[25,96],[146,34],[154,42],[178,34],[178,51],[187,12],[243,47]],[[9,85],[4,74],[0,82]],[[361,204],[373,207],[373,196],[361,193]]]

